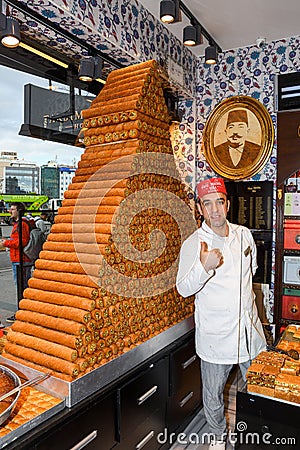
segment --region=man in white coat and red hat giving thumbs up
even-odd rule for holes
[[[223,391],[234,364],[243,377],[266,348],[252,277],[256,246],[250,231],[227,221],[229,200],[222,178],[197,185],[201,227],[183,243],[176,286],[195,294],[196,351],[201,358],[203,407],[213,436],[209,448],[226,448]]]

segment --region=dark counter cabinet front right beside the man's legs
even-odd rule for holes
[[[170,355],[170,398],[167,422],[170,431],[201,406],[200,361],[194,338]]]

